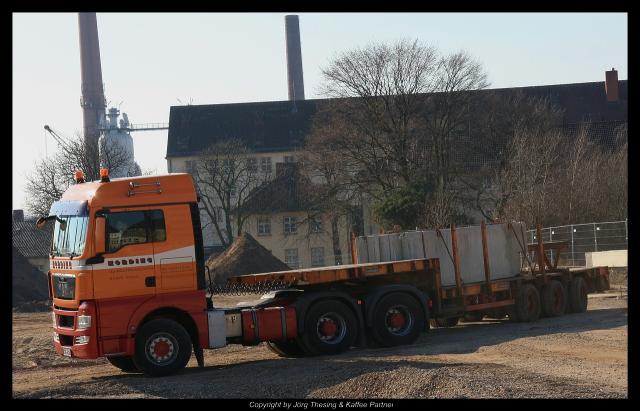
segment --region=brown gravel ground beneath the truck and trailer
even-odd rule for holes
[[[264,344],[205,351],[178,375],[125,374],[55,355],[50,313],[14,313],[18,398],[626,398],[627,294],[535,323],[434,328],[413,345],[284,359]],[[250,298],[246,298],[250,299]],[[220,301],[220,300],[219,300]],[[231,301],[231,300],[229,300]],[[227,301],[222,300],[224,305]],[[52,378],[53,377],[53,378]]]

